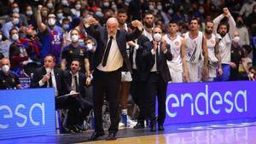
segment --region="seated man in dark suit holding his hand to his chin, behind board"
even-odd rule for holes
[[[71,92],[67,89],[63,71],[55,67],[55,57],[46,55],[44,66],[39,67],[32,75],[31,88],[54,88],[55,96],[66,95]],[[66,99],[55,99],[56,109],[67,108]]]

